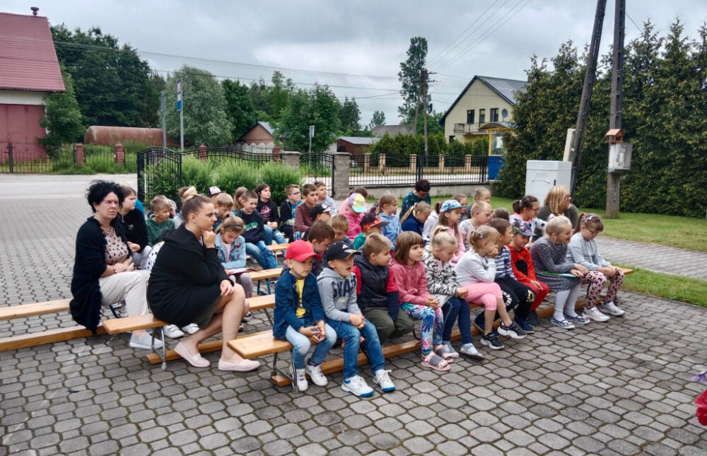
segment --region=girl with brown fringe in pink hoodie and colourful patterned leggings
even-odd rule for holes
[[[409,317],[422,320],[420,328],[422,366],[445,372],[452,368],[448,363],[452,357],[442,344],[444,317],[440,302],[427,288],[427,276],[422,264],[423,248],[424,241],[421,235],[414,231],[400,233],[395,245],[394,258],[390,262],[390,270],[395,276],[400,308]]]

